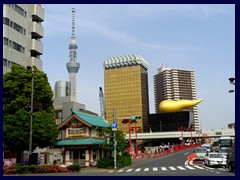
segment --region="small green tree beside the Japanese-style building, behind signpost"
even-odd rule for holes
[[[101,144],[101,149],[106,150],[106,151],[113,151],[114,146],[113,146],[113,131],[112,127],[106,127],[102,128],[100,131],[101,136],[105,136],[105,138],[109,138],[109,143],[108,141],[104,141],[103,144]],[[128,140],[125,138],[125,134],[123,134],[122,131],[117,130],[116,131],[116,141],[117,141],[117,146],[116,146],[116,151],[117,153],[121,152],[123,153],[125,148],[128,147]]]

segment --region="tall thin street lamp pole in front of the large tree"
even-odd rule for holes
[[[33,91],[34,91],[34,68],[27,66],[27,69],[32,73],[32,90],[31,90],[31,115],[30,115],[30,142],[29,142],[29,162],[32,160],[32,121],[33,121]]]

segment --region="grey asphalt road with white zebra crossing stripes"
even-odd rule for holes
[[[224,167],[206,167],[187,163],[193,149],[180,151],[163,157],[133,160],[133,165],[117,170],[95,172],[96,176],[235,176]],[[93,175],[83,174],[83,175]]]

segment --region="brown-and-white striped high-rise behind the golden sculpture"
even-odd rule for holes
[[[159,113],[159,103],[166,99],[196,99],[194,71],[161,67],[154,76],[155,112]],[[193,129],[200,130],[198,108],[188,108],[193,113]]]

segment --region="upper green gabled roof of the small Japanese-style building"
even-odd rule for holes
[[[92,114],[84,113],[77,111],[75,109],[71,109],[72,114],[65,120],[63,121],[59,126],[58,129],[63,129],[64,126],[71,121],[73,118],[76,118],[83,124],[92,127],[108,127],[110,126],[105,120],[103,120],[100,116],[95,116]]]

